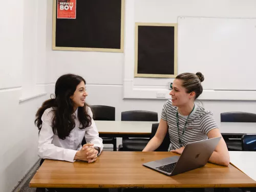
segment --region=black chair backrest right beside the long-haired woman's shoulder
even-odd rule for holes
[[[91,105],[93,119],[96,121],[115,121],[116,108],[106,105]]]

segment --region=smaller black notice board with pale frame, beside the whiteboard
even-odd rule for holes
[[[136,30],[135,77],[174,77],[177,74],[175,25],[142,26],[138,24]]]

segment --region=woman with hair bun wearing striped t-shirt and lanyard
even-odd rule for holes
[[[174,82],[167,100],[163,106],[161,120],[156,135],[148,142],[144,152],[155,151],[168,131],[170,145],[168,151],[181,154],[187,143],[222,137],[218,125],[210,111],[195,104],[195,100],[202,94],[202,73],[182,73]],[[229,153],[226,143],[221,138],[209,162],[228,166]]]

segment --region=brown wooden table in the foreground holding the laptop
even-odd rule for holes
[[[142,163],[176,155],[171,152],[102,152],[94,163],[45,160],[30,187],[255,187],[256,182],[239,169],[207,163],[204,167],[172,177]]]

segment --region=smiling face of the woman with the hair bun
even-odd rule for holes
[[[173,82],[173,90],[170,91],[169,95],[172,96],[174,106],[183,106],[194,101],[195,92],[187,93],[186,89],[182,86],[183,80],[175,79]]]

